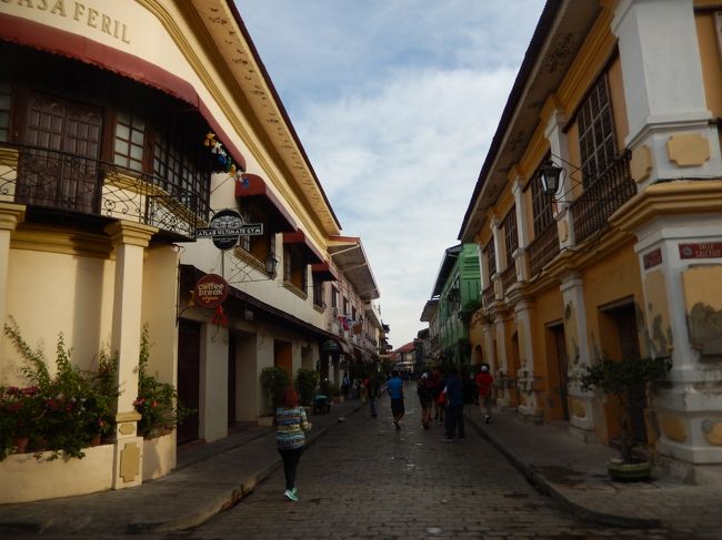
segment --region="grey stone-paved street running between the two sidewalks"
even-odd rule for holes
[[[473,430],[464,441],[424,431],[415,393],[397,432],[380,415],[355,412],[301,459],[301,500],[283,497],[278,471],[235,508],[171,539],[694,538],[690,531],[625,530],[580,521],[539,495]]]

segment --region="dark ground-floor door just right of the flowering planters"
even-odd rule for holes
[[[178,427],[178,444],[198,439],[200,410],[201,325],[180,319],[178,329],[178,398],[194,409]]]

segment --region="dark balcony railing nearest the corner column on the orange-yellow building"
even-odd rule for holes
[[[630,172],[631,152],[624,152],[570,205],[574,242],[581,244],[609,226],[609,216],[636,194]]]

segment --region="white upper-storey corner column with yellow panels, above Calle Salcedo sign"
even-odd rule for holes
[[[615,8],[611,29],[630,126],[624,144],[639,191],[660,179],[719,177],[718,128],[706,106],[693,3],[623,0]]]

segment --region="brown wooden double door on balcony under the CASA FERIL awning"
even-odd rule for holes
[[[28,101],[18,202],[98,213],[102,111],[49,94]]]

